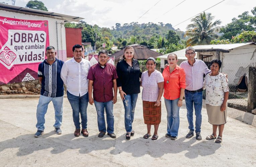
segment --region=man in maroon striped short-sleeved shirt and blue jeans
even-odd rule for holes
[[[89,103],[91,105],[94,103],[97,111],[98,128],[100,132],[98,137],[103,137],[107,131],[107,135],[111,138],[116,138],[114,134],[113,104],[116,103],[117,96],[117,73],[115,66],[107,62],[108,58],[106,50],[102,50],[98,53],[99,62],[91,66],[87,76],[87,79],[89,79],[88,93]],[[107,117],[107,129],[105,125],[104,109]]]

